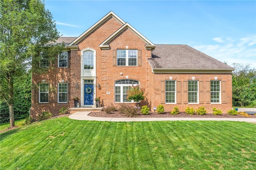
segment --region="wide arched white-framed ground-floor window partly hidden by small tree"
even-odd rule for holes
[[[139,84],[137,80],[131,79],[123,79],[115,82],[115,102],[116,103],[126,103],[126,102],[134,102],[133,100],[127,99],[127,91],[129,90],[129,86],[136,86]]]

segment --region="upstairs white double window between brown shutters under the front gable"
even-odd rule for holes
[[[117,50],[118,66],[137,66],[137,50]]]

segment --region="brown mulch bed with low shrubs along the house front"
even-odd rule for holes
[[[118,111],[112,112],[112,113],[106,113],[104,111],[98,111],[98,112],[92,112],[88,114],[88,116],[92,117],[127,117],[126,115],[119,113]],[[245,117],[242,115],[230,115],[230,114],[224,114],[221,115],[214,115],[212,113],[206,114],[206,115],[189,115],[186,112],[180,112],[177,115],[171,115],[170,112],[164,112],[162,114],[158,114],[156,112],[150,111],[148,115],[139,114],[136,117],[200,117],[200,118],[256,118],[256,115],[251,115],[251,117]]]

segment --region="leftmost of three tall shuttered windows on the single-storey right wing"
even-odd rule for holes
[[[175,92],[176,92],[176,82],[166,81],[165,82],[165,102],[175,103]]]

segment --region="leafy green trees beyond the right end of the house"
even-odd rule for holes
[[[256,70],[250,64],[232,64],[232,103],[233,106],[247,106],[256,100]]]

